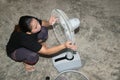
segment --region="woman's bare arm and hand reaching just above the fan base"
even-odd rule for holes
[[[64,44],[54,46],[52,48],[47,48],[43,45],[42,48],[38,51],[38,53],[45,54],[45,55],[52,55],[52,54],[55,54],[55,53],[65,49],[65,48],[70,48],[70,49],[76,50],[76,46],[71,45],[71,42],[67,41]]]

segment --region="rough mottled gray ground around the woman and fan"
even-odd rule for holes
[[[12,61],[5,51],[20,16],[48,20],[55,8],[81,21],[76,43],[85,65],[79,71],[90,80],[120,80],[120,0],[0,0],[0,80],[45,80],[45,76],[53,80],[58,75],[51,59],[40,57],[37,71],[26,73],[23,64]],[[52,30],[49,36],[52,46]]]

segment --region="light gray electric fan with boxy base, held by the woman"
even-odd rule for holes
[[[75,44],[74,30],[79,27],[80,20],[78,18],[69,19],[67,15],[59,9],[54,9],[51,16],[57,18],[57,21],[53,24],[53,31],[59,44],[66,41],[72,41],[72,44]],[[82,66],[79,53],[71,49],[60,52],[59,55],[52,58],[52,61],[59,72],[75,70]],[[87,78],[81,80],[87,80]]]

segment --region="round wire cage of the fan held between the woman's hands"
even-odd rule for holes
[[[53,30],[57,41],[60,44],[66,41],[72,41],[72,43],[74,44],[74,31],[70,30],[70,27],[72,27],[72,25],[69,22],[69,18],[66,16],[66,14],[59,9],[55,9],[52,11],[51,15],[58,18],[57,23],[53,25]]]

